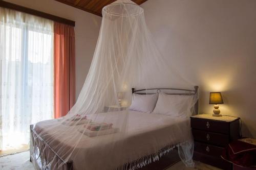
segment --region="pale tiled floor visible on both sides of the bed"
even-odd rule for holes
[[[29,152],[0,157],[1,170],[33,170],[33,164],[29,161]],[[219,170],[216,167],[196,162],[195,168],[187,168],[182,162],[178,162],[166,170]]]

